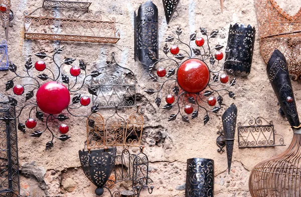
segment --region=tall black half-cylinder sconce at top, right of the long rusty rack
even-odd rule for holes
[[[148,50],[156,53],[159,58],[158,40],[158,8],[147,1],[134,13],[134,55],[135,61],[139,60],[146,67],[156,61],[149,57]]]

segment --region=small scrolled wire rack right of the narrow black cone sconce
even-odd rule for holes
[[[282,135],[276,134],[273,122],[262,117],[249,118],[244,123],[237,124],[238,148],[257,148],[285,146]],[[275,136],[279,136],[279,144],[275,144]]]

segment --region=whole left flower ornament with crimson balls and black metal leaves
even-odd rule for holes
[[[41,122],[45,121],[44,130],[36,130],[30,136],[40,137],[45,131],[49,131],[52,135],[52,139],[47,142],[46,150],[53,147],[53,140],[57,138],[61,141],[66,141],[70,138],[69,135],[66,135],[69,131],[69,127],[66,124],[59,124],[69,119],[66,116],[66,113],[74,117],[86,117],[87,115],[75,115],[73,111],[88,106],[90,104],[90,97],[87,95],[81,95],[77,93],[71,101],[70,104],[70,94],[73,92],[78,92],[83,88],[87,88],[89,93],[93,95],[96,94],[95,88],[86,84],[87,79],[97,77],[100,72],[98,70],[92,71],[90,74],[86,73],[86,64],[83,60],[79,60],[79,66],[74,66],[76,59],[66,58],[62,64],[59,64],[56,60],[56,55],[61,54],[63,51],[62,48],[57,48],[54,50],[52,56],[47,55],[44,52],[35,54],[41,60],[36,61],[33,65],[32,58],[30,57],[25,63],[26,73],[17,72],[17,66],[10,62],[10,71],[15,73],[15,77],[12,80],[6,82],[6,91],[13,88],[13,92],[16,97],[9,96],[9,103],[12,106],[18,107],[18,115],[15,119],[19,122],[18,129],[25,133],[25,127],[28,129],[34,129],[37,126],[37,120]],[[43,61],[43,59],[50,59],[53,64],[53,71],[49,65]],[[72,66],[73,64],[73,66]],[[33,66],[35,70],[32,69]],[[63,72],[63,67],[70,67],[70,75],[72,78],[69,78],[67,74]],[[56,72],[54,72],[56,70]],[[84,72],[84,74],[81,72]],[[34,73],[41,73],[36,77],[33,76]],[[47,74],[46,74],[47,73]],[[55,74],[57,73],[57,74]],[[15,84],[16,81],[25,81],[26,84]],[[59,82],[62,81],[63,83]],[[41,83],[43,82],[43,84]],[[65,85],[64,85],[65,84]],[[25,91],[28,90],[26,93]],[[25,94],[25,98],[22,96]],[[23,99],[22,99],[22,97]],[[24,102],[23,106],[19,106],[17,99]],[[98,106],[94,105],[91,108],[91,112],[97,112]],[[64,112],[64,113],[63,113]],[[25,124],[22,121],[19,121],[20,115],[22,113],[28,113],[28,120]],[[36,117],[36,119],[34,118]],[[52,129],[61,133],[61,136],[57,137]]]

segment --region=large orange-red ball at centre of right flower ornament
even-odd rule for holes
[[[178,69],[177,80],[182,89],[189,93],[204,90],[210,80],[210,71],[205,62],[199,59],[188,59]]]

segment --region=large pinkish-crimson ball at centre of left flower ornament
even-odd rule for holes
[[[68,107],[69,103],[69,90],[59,82],[44,83],[37,91],[37,104],[47,114],[59,114]]]

